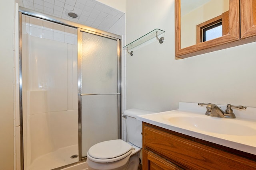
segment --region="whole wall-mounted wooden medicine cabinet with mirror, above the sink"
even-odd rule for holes
[[[205,30],[218,25],[220,35],[205,39],[206,35],[210,37]],[[192,57],[253,41],[256,0],[175,0],[176,57]]]

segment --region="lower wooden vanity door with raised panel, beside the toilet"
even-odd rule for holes
[[[177,165],[154,154],[151,151],[143,149],[143,170],[182,170]]]

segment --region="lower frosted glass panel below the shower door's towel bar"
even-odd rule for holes
[[[82,157],[99,142],[118,139],[116,95],[82,97]]]

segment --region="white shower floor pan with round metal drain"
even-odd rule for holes
[[[78,162],[78,157],[70,158],[74,154],[78,154],[78,145],[60,148],[55,152],[50,152],[36,158],[25,170],[51,170]]]

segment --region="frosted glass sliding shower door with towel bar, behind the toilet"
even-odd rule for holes
[[[120,139],[120,39],[86,30],[78,31],[78,37],[84,158],[92,145]]]

